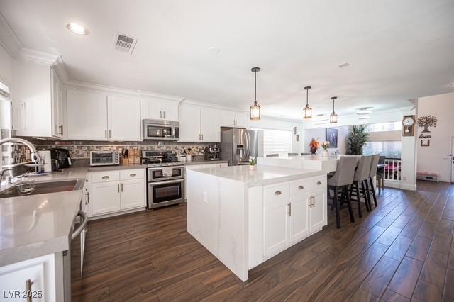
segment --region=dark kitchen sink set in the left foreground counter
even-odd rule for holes
[[[0,192],[0,198],[47,194],[82,189],[83,180],[26,182]]]

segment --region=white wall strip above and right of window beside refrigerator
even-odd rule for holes
[[[262,128],[262,129],[275,129],[275,130],[289,130],[293,133],[293,128],[297,127],[297,134],[292,134],[292,152],[303,152],[304,135],[302,134],[302,123],[294,120],[283,120],[279,118],[263,117],[260,121],[250,121],[248,119],[248,128]],[[299,141],[297,142],[297,135]]]

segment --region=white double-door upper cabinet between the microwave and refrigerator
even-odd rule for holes
[[[216,108],[179,106],[180,142],[221,142],[221,115]]]

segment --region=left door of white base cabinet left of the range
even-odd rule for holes
[[[120,181],[92,184],[92,215],[121,210]]]

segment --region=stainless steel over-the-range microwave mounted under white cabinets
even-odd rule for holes
[[[162,120],[143,120],[144,140],[179,140],[179,123]]]

